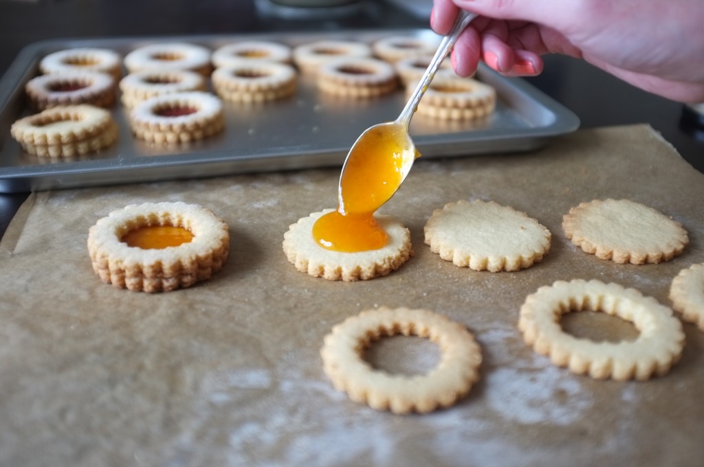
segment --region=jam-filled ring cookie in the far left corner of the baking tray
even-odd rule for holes
[[[122,75],[122,57],[110,49],[81,47],[65,49],[39,60],[39,71],[44,74],[75,71],[96,71],[120,79]]]

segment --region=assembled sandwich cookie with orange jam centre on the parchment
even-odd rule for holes
[[[229,248],[227,224],[205,207],[186,203],[128,205],[88,232],[93,270],[104,283],[150,293],[210,279]]]

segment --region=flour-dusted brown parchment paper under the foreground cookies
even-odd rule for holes
[[[555,280],[613,281],[670,305],[672,278],[704,262],[704,175],[652,129],[589,129],[534,153],[419,160],[381,210],[410,228],[416,255],[372,281],[315,279],[282,252],[289,224],[334,207],[338,177],[339,169],[317,169],[32,195],[0,244],[0,465],[704,463],[704,333],[695,326],[684,324],[679,364],[645,383],[574,376],[524,345],[516,327],[525,296]],[[475,198],[538,219],[553,233],[549,255],[491,274],[430,252],[422,229],[432,211]],[[560,225],[570,207],[594,198],[654,207],[681,222],[691,243],[662,264],[587,255]],[[161,200],[200,203],[225,219],[225,268],[157,295],[101,283],[89,227],[129,203]],[[332,388],[323,336],[380,305],[433,309],[476,335],[482,380],[468,397],[395,416]],[[413,343],[375,352],[404,346]],[[410,357],[432,366],[436,350],[422,349]]]

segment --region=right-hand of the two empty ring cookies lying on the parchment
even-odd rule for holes
[[[610,343],[565,333],[560,327],[562,314],[585,310],[631,321],[638,338]],[[665,375],[684,347],[682,325],[670,308],[638,290],[599,281],[557,281],[539,288],[522,305],[518,327],[525,342],[555,365],[596,379],[647,380]]]

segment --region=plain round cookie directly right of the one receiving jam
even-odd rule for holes
[[[424,230],[432,252],[475,271],[517,271],[550,250],[551,233],[545,226],[494,201],[448,203],[433,212]]]

